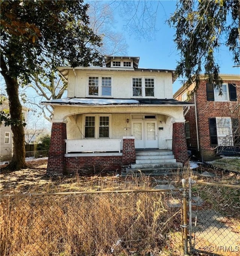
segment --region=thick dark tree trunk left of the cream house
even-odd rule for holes
[[[10,116],[14,122],[17,122],[17,125],[11,125],[13,151],[12,160],[10,161],[8,168],[11,170],[19,170],[26,166],[22,105],[18,97],[17,78],[12,78],[8,75],[7,66],[3,58],[1,58],[1,74],[6,82]]]

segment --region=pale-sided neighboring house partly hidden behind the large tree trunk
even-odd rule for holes
[[[9,102],[5,96],[1,96],[1,110],[9,110]],[[28,108],[22,107],[24,119],[27,118]],[[0,160],[6,161],[12,158],[12,130],[11,126],[0,124]]]

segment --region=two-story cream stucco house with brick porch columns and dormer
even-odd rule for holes
[[[141,69],[138,62],[105,56],[104,67],[58,67],[68,98],[42,102],[54,107],[49,175],[187,161],[183,108],[191,104],[173,99],[174,70]],[[138,151],[149,149],[163,156],[137,162]]]

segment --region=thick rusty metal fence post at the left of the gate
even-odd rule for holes
[[[186,179],[181,180],[183,185],[183,248],[184,248],[184,255],[188,255],[188,248],[187,248],[187,199],[186,199]]]

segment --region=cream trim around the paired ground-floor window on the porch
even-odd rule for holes
[[[94,138],[86,138],[85,137],[85,122],[87,116],[94,116],[95,117],[95,137]],[[109,117],[109,137],[99,137],[99,122],[101,116],[108,116]],[[82,133],[82,139],[111,139],[112,133],[111,133],[111,127],[112,127],[112,114],[83,114],[83,133]]]

